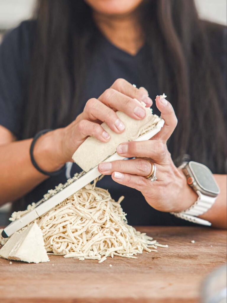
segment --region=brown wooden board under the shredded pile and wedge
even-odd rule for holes
[[[226,231],[200,227],[137,229],[169,248],[138,255],[138,259],[107,258],[101,264],[62,256],[50,256],[50,262],[39,264],[10,264],[0,258],[0,302],[198,302],[203,279],[226,262]]]

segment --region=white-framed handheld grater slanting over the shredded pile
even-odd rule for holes
[[[145,132],[143,135],[140,135],[134,141],[146,141],[156,135],[164,125],[164,120],[161,119],[156,126]],[[105,161],[115,161],[115,160],[123,160],[127,159],[124,157],[119,156],[117,153],[114,153],[112,156],[108,157]],[[22,216],[20,219],[17,219],[10,223],[3,231],[2,237],[8,238],[10,237],[15,231],[20,230],[21,228],[25,227],[27,224],[31,223],[33,220],[37,219],[38,217],[44,215],[47,211],[51,208],[55,207],[69,196],[73,195],[76,191],[83,188],[88,183],[94,181],[97,177],[99,177],[101,173],[98,171],[98,165],[87,173],[82,172],[77,177],[73,177],[60,188],[54,190],[53,193],[50,193],[48,197],[44,196],[36,205],[34,209],[30,212]]]

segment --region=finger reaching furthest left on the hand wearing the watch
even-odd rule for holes
[[[114,171],[119,171],[122,173],[145,177],[150,175],[151,169],[151,163],[141,158],[102,162],[98,166],[98,170],[103,175],[111,175]]]

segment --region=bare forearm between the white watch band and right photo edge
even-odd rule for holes
[[[205,214],[199,216],[199,218],[207,220],[212,223],[213,227],[217,228],[226,228],[226,186],[227,186],[227,178],[226,175],[214,175],[214,178],[219,185],[220,194],[216,199],[212,208],[210,208]]]

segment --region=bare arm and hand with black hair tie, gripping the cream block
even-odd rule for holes
[[[138,89],[126,80],[117,79],[98,99],[88,100],[84,111],[70,125],[38,138],[33,150],[37,165],[44,171],[58,170],[67,161],[72,161],[72,155],[87,136],[108,142],[108,135],[100,125],[104,121],[114,132],[122,133],[124,125],[118,119],[115,110],[125,112],[134,119],[142,119],[145,115],[143,106],[133,100],[134,98],[145,102],[147,106],[152,105],[152,100],[148,98],[144,88]],[[0,128],[0,137],[1,134],[3,141],[0,142],[2,172],[0,204],[14,201],[48,178],[31,163],[29,148],[32,138],[11,142],[15,138],[10,131]]]

